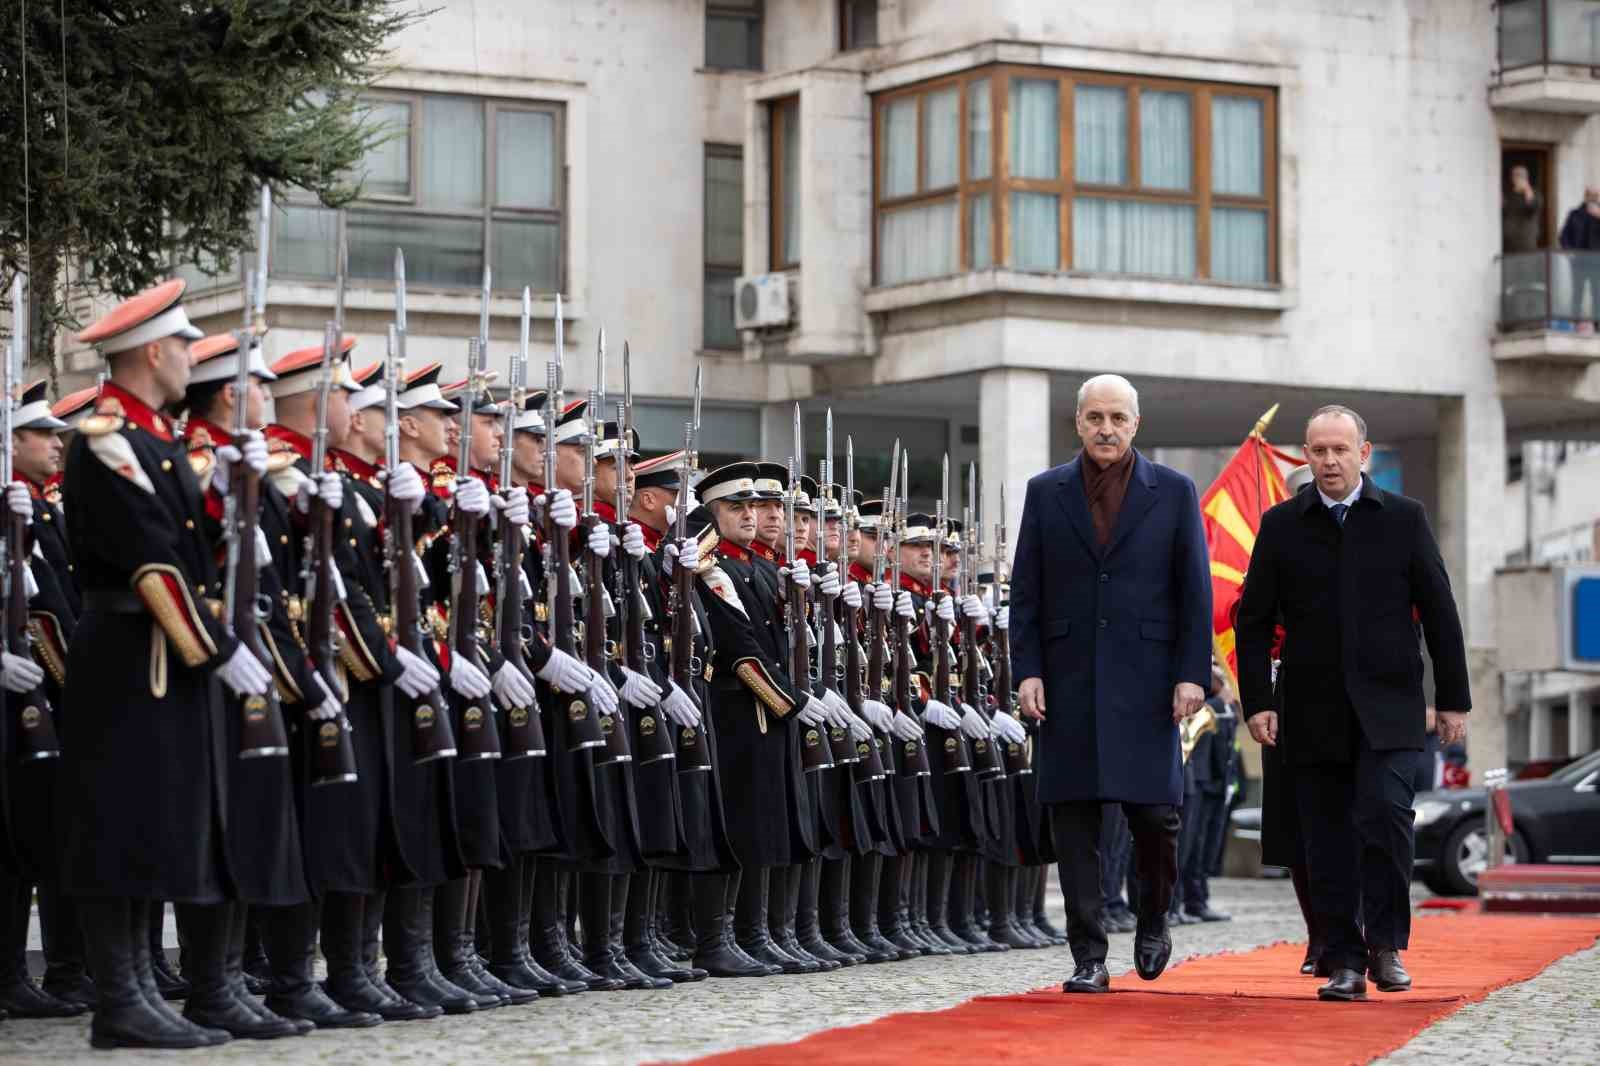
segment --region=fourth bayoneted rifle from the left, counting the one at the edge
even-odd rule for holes
[[[384,469],[394,479],[400,469],[400,386],[405,384],[405,253],[395,248],[395,320],[384,351]],[[422,608],[411,533],[411,503],[395,499],[384,483],[384,565],[389,568],[389,610],[394,613],[395,643],[422,658]],[[405,699],[397,690],[395,699]],[[411,707],[411,762],[421,765],[456,754],[456,730],[445,714],[438,690],[430,690]]]

